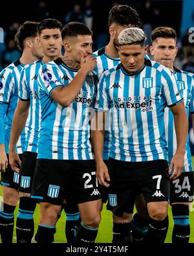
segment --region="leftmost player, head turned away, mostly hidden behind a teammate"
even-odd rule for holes
[[[17,47],[23,51],[19,60],[8,65],[0,75],[0,168],[1,185],[3,185],[3,205],[0,211],[0,233],[3,243],[11,243],[14,228],[14,210],[18,201],[19,174],[13,172],[8,163],[8,143],[14,111],[18,100],[19,78],[24,65],[35,62],[42,55],[38,45],[38,23],[26,21],[16,33]],[[25,148],[25,129],[16,145],[17,153],[21,154]],[[21,161],[19,160],[19,165]]]

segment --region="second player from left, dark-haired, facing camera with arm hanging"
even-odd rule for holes
[[[43,49],[43,59],[26,65],[21,71],[19,100],[14,113],[9,145],[10,165],[17,172],[16,163],[19,161],[19,156],[15,148],[19,135],[25,127],[30,107],[28,134],[19,173],[19,211],[16,222],[16,235],[19,243],[30,243],[34,234],[33,214],[36,209],[36,200],[30,198],[30,193],[38,153],[40,118],[38,73],[43,64],[61,56],[62,29],[63,25],[56,19],[44,19],[39,23],[38,34],[39,43]]]

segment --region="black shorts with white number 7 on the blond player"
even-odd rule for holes
[[[146,203],[168,201],[169,174],[166,160],[126,162],[109,159],[109,202],[107,209],[124,211],[134,204],[137,194],[144,194]]]

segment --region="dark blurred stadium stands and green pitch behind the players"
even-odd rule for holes
[[[158,26],[173,27],[177,31],[178,54],[175,65],[185,71],[194,73],[194,0],[30,0],[3,1],[0,16],[0,71],[21,56],[14,42],[19,25],[24,21],[41,21],[48,17],[59,19],[63,25],[69,21],[81,21],[94,32],[94,51],[109,41],[107,19],[113,5],[130,5],[140,14],[143,29],[150,44],[151,30]],[[6,17],[6,18],[5,18]],[[189,40],[190,39],[190,40]],[[191,153],[194,155],[194,135],[189,120],[189,139]],[[1,194],[1,188],[0,188]],[[194,209],[194,207],[193,207]],[[17,209],[16,209],[17,215]],[[35,224],[39,222],[39,205],[36,209]],[[166,242],[171,242],[173,221],[169,211],[169,231]],[[194,211],[191,213],[191,239],[194,242]],[[105,208],[102,212],[102,223],[96,242],[111,242],[111,213]],[[16,234],[14,234],[16,237]],[[57,224],[56,242],[66,242],[65,215]],[[16,239],[13,240],[16,242]]]

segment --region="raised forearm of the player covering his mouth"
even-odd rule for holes
[[[83,83],[85,82],[86,75],[87,73],[80,69],[69,85],[62,87],[61,102],[63,102],[63,106],[69,106],[73,100],[76,99],[80,93]]]

